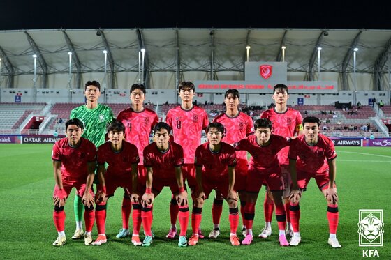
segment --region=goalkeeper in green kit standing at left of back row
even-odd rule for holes
[[[75,107],[71,111],[69,118],[78,118],[82,121],[84,132],[82,137],[89,139],[98,148],[105,142],[106,128],[114,118],[112,110],[107,105],[98,103],[101,96],[101,84],[93,80],[84,85],[85,105]],[[97,181],[97,178],[94,182]],[[84,231],[82,229],[83,204],[80,197],[75,196],[73,201],[75,211],[76,230],[72,239],[82,238]],[[92,242],[92,238],[91,238]]]

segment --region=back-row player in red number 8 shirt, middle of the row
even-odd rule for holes
[[[201,144],[202,130],[205,130],[209,124],[207,112],[193,105],[194,91],[195,87],[192,82],[181,82],[179,84],[179,98],[182,100],[182,105],[170,109],[165,119],[172,129],[174,142],[184,148],[182,171],[186,176],[192,195],[197,186],[194,167],[195,149]],[[166,236],[167,238],[174,239],[177,234],[178,212],[177,201],[172,197],[170,203],[171,229]],[[201,231],[199,233],[200,238],[203,238]]]

